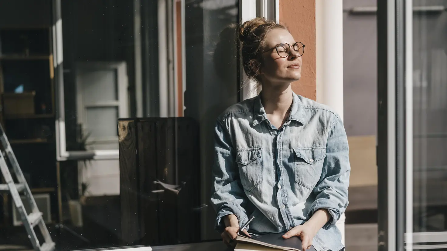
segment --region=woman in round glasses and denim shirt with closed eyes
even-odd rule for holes
[[[250,234],[296,235],[303,250],[344,250],[335,226],[348,205],[350,175],[342,120],[292,92],[304,45],[286,27],[255,18],[238,32],[244,70],[262,91],[217,118],[215,227],[229,244],[254,216]]]

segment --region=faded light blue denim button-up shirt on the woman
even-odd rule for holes
[[[343,122],[325,105],[293,93],[291,112],[277,129],[260,96],[232,105],[215,126],[211,204],[249,232],[281,233],[303,224],[320,208],[332,218],[313,239],[317,251],[344,250],[335,223],[348,205],[349,147]]]

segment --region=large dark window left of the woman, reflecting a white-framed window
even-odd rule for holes
[[[277,13],[263,4],[0,3],[0,120],[57,250],[219,240],[215,118],[256,93],[240,89],[234,29]],[[13,201],[2,193],[0,245],[30,249]]]

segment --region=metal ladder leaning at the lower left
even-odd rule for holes
[[[45,222],[42,218],[42,213],[39,211],[34,201],[34,197],[31,194],[30,187],[26,183],[25,177],[17,163],[16,156],[14,155],[13,149],[8,142],[8,138],[4,133],[3,127],[0,125],[0,142],[2,146],[2,151],[0,151],[0,169],[4,177],[5,184],[0,184],[0,191],[9,191],[14,200],[14,205],[20,214],[23,226],[25,226],[26,232],[28,233],[28,238],[30,238],[35,251],[53,251],[55,249],[55,243],[51,240],[50,232],[45,226]],[[17,177],[17,184],[14,184],[11,172],[9,172],[6,160],[8,159],[13,172]],[[23,205],[19,192],[23,192],[25,199],[30,203],[31,213],[27,214],[25,211],[25,206]],[[39,240],[34,231],[34,227],[39,226],[40,232],[45,239],[45,243],[40,245]]]

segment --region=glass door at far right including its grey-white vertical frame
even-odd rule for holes
[[[379,250],[447,249],[447,1],[378,1]]]

